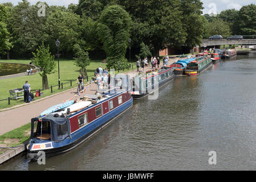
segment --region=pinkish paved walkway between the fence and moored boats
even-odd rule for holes
[[[170,59],[169,64],[174,63],[175,59]],[[160,67],[162,66],[162,61]],[[141,69],[141,68],[140,68]],[[145,67],[144,72],[149,71],[151,66]],[[126,72],[128,73],[138,73],[137,69]],[[38,117],[42,111],[48,109],[51,106],[60,104],[63,101],[69,100],[71,97],[75,99],[74,95],[76,93],[76,89],[66,90],[62,93],[55,94],[53,96],[48,96],[46,98],[42,98],[40,100],[32,101],[29,104],[23,104],[23,106],[13,108],[10,110],[5,110],[0,112],[0,135],[14,130],[18,127],[26,125],[30,123],[31,118]],[[86,94],[95,92],[96,84],[91,84],[91,87],[87,89]]]

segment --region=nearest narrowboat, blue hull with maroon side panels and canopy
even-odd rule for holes
[[[127,89],[115,88],[113,92],[87,94],[73,105],[32,118],[27,158],[38,159],[39,151],[50,157],[75,148],[128,110],[132,103]]]

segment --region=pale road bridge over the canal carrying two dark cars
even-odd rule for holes
[[[221,45],[256,45],[256,39],[243,40],[202,40],[201,47],[221,46]]]

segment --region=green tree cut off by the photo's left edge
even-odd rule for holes
[[[9,32],[6,28],[5,19],[7,18],[6,7],[0,5],[0,53],[5,54],[9,51],[11,43],[9,42]]]

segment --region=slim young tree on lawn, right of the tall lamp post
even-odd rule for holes
[[[80,68],[81,75],[85,78],[87,77],[87,71],[86,67],[90,65],[90,59],[88,52],[84,51],[82,48],[80,48],[79,44],[74,45],[74,62],[77,67]]]

